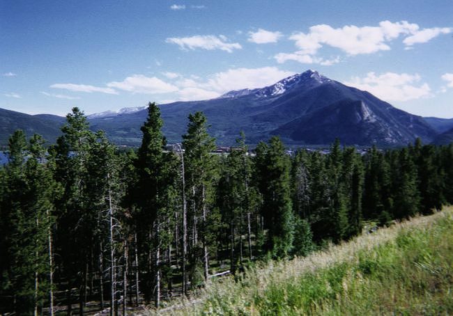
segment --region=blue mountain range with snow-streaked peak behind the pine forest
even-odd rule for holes
[[[381,146],[406,145],[417,137],[429,143],[439,133],[424,118],[395,109],[370,93],[344,86],[313,70],[265,88],[230,91],[213,100],[162,104],[160,110],[163,132],[170,143],[181,142],[187,116],[195,111],[203,111],[208,117],[210,134],[217,139],[217,145],[234,145],[240,131],[251,144],[279,135],[289,145],[325,145],[339,138],[347,145]],[[91,129],[103,129],[114,143],[137,146],[146,116],[143,108],[122,109],[89,116],[89,121]],[[47,115],[27,117],[33,119],[33,124],[25,126],[42,128],[41,134],[50,141],[59,134],[56,129],[64,120]],[[431,121],[438,123],[436,118]],[[12,124],[11,120],[6,123]],[[13,131],[8,127],[1,133],[3,136]]]

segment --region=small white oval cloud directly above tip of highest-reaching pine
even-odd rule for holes
[[[170,93],[178,88],[156,77],[146,77],[143,74],[133,74],[123,81],[112,81],[107,84],[109,88],[117,88],[132,93]]]

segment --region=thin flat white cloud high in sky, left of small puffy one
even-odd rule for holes
[[[178,45],[181,49],[220,49],[225,52],[233,52],[233,49],[241,49],[237,42],[227,42],[227,38],[224,35],[194,35],[188,38],[167,38],[165,42],[173,43]]]

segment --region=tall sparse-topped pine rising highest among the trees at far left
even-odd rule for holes
[[[79,313],[84,313],[89,262],[94,253],[98,226],[98,212],[91,208],[89,199],[90,174],[87,169],[95,135],[89,130],[84,113],[78,108],[66,116],[61,127],[63,135],[51,149],[55,159],[54,177],[63,186],[63,195],[56,210],[59,222],[55,244],[59,248],[61,264],[68,280],[68,289],[79,289]],[[68,290],[68,314],[72,313],[72,295]]]

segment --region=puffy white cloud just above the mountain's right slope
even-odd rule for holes
[[[417,84],[420,80],[418,74],[386,72],[376,75],[374,72],[369,72],[367,77],[353,77],[351,81],[344,84],[367,90],[385,101],[404,102],[431,96],[431,88],[427,83]]]

